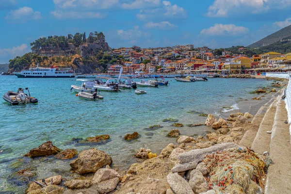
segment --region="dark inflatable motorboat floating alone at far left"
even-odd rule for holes
[[[35,97],[31,97],[29,89],[25,88],[28,94],[24,94],[24,89],[19,88],[17,92],[6,92],[3,99],[12,105],[27,104],[27,103],[37,103],[38,100]]]

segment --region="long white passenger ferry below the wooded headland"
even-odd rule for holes
[[[72,68],[31,67],[21,72],[13,72],[18,78],[74,78],[76,74]]]

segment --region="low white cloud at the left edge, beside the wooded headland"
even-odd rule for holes
[[[9,48],[9,49],[1,49],[0,48],[0,63],[8,63],[10,59],[13,59],[16,56],[22,56],[25,53],[29,52],[30,49],[26,44],[22,44],[17,47]]]

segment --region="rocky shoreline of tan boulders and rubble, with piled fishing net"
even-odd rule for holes
[[[141,148],[135,157],[144,162],[133,163],[127,171],[111,167],[113,161],[104,151],[91,148],[77,153],[74,149],[61,150],[48,141],[33,148],[26,157],[53,155],[70,162],[71,178],[61,175],[28,184],[27,194],[218,194],[263,193],[268,154],[261,156],[240,146],[245,129],[250,124],[250,113],[232,113],[225,120],[209,114],[205,125],[215,132],[197,138],[180,135],[173,129],[168,136],[177,138],[177,145],[169,144],[159,155]],[[179,126],[179,125],[177,125]],[[129,138],[131,137],[131,138]],[[102,141],[100,135],[87,141]],[[125,139],[138,138],[127,134]],[[26,176],[29,169],[22,170]],[[252,176],[249,176],[252,175]]]

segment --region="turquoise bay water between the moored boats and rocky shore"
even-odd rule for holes
[[[175,118],[186,125],[205,122],[206,117],[197,113],[224,116],[224,112],[238,109],[240,101],[254,96],[249,92],[272,82],[215,78],[208,82],[185,83],[168,79],[169,86],[142,88],[147,91],[146,95],[136,95],[134,90],[118,93],[101,91],[103,100],[90,101],[70,92],[75,80],[0,76],[0,95],[16,91],[18,87],[29,87],[31,95],[39,100],[38,104],[11,106],[0,99],[0,191],[22,193],[28,180],[18,178],[15,172],[25,167],[34,170],[36,179],[59,174],[70,176],[70,160],[61,161],[52,157],[31,160],[22,157],[45,141],[50,140],[61,149],[81,151],[96,147],[109,153],[113,165],[122,169],[136,162],[132,154],[139,147],[159,153],[167,144],[175,143],[175,138],[165,137],[174,127],[171,123],[162,122],[163,119]],[[153,131],[144,129],[152,125],[163,128]],[[203,126],[180,128],[181,134],[185,135],[205,135],[207,130],[211,129]],[[122,139],[126,133],[134,131],[141,135],[138,140],[126,142]],[[71,141],[72,138],[100,134],[109,134],[111,141],[104,144]]]

